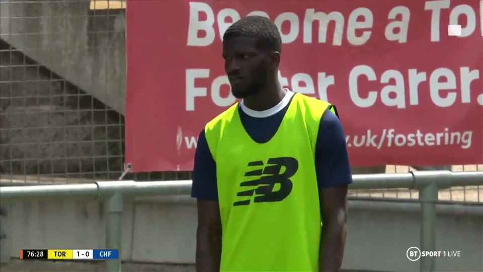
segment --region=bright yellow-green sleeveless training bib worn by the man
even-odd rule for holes
[[[320,208],[314,153],[331,104],[294,94],[273,136],[256,143],[235,104],[205,126],[216,162],[223,272],[318,271]]]

